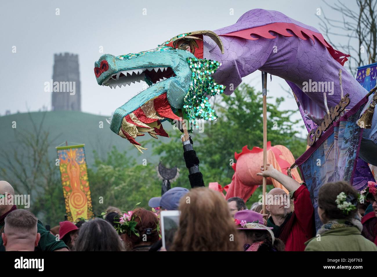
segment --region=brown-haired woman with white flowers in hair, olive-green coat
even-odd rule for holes
[[[362,236],[357,217],[358,193],[346,182],[327,183],[319,189],[318,215],[322,227],[305,242],[305,251],[377,251]]]

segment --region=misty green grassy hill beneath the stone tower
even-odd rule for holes
[[[32,120],[39,125],[42,121],[44,112],[16,113],[13,115],[0,116],[0,151],[9,152],[13,148],[17,149],[17,139],[22,139],[25,131],[32,131]],[[12,122],[16,122],[16,128],[12,128]],[[101,129],[100,121],[103,122]],[[169,122],[163,123],[164,129],[169,133],[172,130],[172,125]],[[107,152],[112,146],[115,146],[120,152],[124,150],[129,153],[130,158],[136,159],[138,164],[147,159],[147,162],[158,162],[158,156],[152,156],[151,143],[147,140],[153,139],[146,134],[138,137],[138,142],[141,142],[143,147],[149,148],[141,154],[133,147],[129,141],[121,138],[110,130],[110,125],[106,122],[106,116],[93,115],[90,113],[76,112],[76,111],[56,111],[46,112],[46,116],[42,125],[42,129],[49,132],[49,138],[53,140],[54,147],[48,149],[49,156],[52,161],[57,158],[55,146],[68,141],[85,144],[86,161],[88,167],[94,163],[93,151],[96,151],[100,158],[105,158]],[[160,137],[162,141],[169,138]],[[127,162],[127,161],[124,161]]]

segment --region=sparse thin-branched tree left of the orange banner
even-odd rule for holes
[[[43,130],[46,113],[39,124],[28,115],[32,131],[14,129],[11,151],[0,153],[0,179],[7,180],[16,194],[30,195],[31,212],[44,224],[57,225],[64,219],[65,208],[59,169],[48,153],[56,138]]]

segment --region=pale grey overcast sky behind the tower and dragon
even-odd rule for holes
[[[346,2],[349,8],[356,7],[355,1]],[[116,90],[98,86],[93,67],[103,53],[121,55],[152,49],[183,32],[215,30],[234,24],[242,14],[256,8],[280,11],[317,29],[317,8],[322,8],[326,15],[331,14],[323,2],[309,0],[46,0],[2,1],[0,5],[0,115],[6,110],[37,111],[42,106],[51,110],[51,93],[44,92],[44,82],[52,78],[54,53],[79,55],[81,110],[110,115],[140,92],[142,85],[136,83]],[[60,15],[56,15],[57,8]],[[231,8],[234,15],[229,13]],[[342,20],[340,14],[332,15]],[[16,46],[16,53],[12,53],[12,46]],[[99,52],[100,46],[103,53]],[[244,82],[260,89],[261,73],[254,72]],[[288,98],[279,84],[289,89],[284,80],[273,77],[272,83],[268,83],[268,96],[284,96],[282,109],[297,109],[294,99]],[[298,112],[295,118],[301,118]],[[302,129],[302,136],[305,134],[307,131]]]

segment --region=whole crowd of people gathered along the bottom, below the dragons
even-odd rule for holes
[[[205,187],[174,187],[149,200],[150,209],[122,212],[109,207],[102,218],[60,222],[47,231],[34,214],[0,206],[0,251],[166,251],[159,213],[179,210],[179,225],[169,251],[377,251],[377,184],[368,182],[362,196],[346,182],[322,185],[315,213],[305,183],[272,165],[257,175],[274,178],[280,188],[265,204],[250,209],[240,197],[225,200]],[[0,196],[14,195],[0,181]]]

